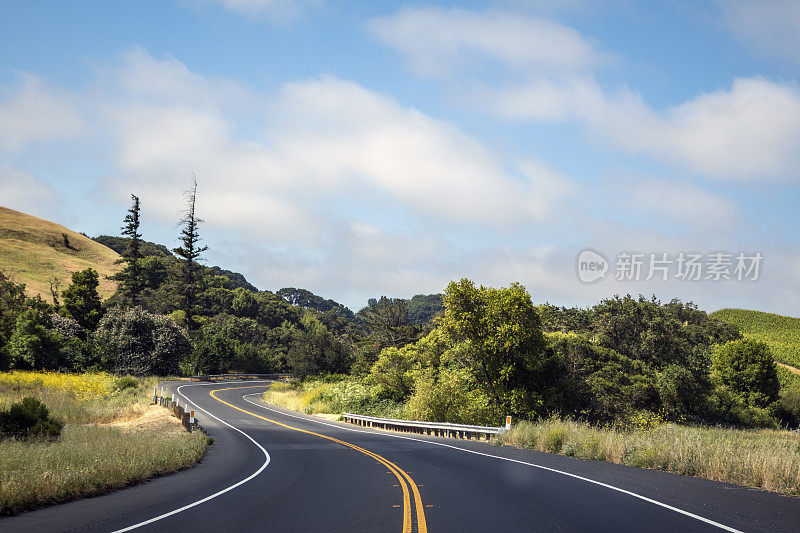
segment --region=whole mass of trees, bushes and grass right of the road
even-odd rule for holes
[[[800,387],[778,372],[770,345],[735,325],[654,298],[533,306],[520,286],[469,280],[451,283],[443,302],[410,342],[392,345],[411,326],[386,320],[400,331],[362,348],[371,364],[276,384],[264,400],[467,424],[511,414],[521,421],[498,445],[800,493],[800,435],[784,429],[800,421]]]

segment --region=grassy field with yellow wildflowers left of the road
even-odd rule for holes
[[[196,463],[205,436],[149,405],[157,381],[117,390],[110,374],[0,373],[0,408],[35,396],[67,422],[54,442],[0,441],[0,514],[102,494]]]

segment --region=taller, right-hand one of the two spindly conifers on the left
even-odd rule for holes
[[[203,220],[195,215],[196,198],[197,178],[192,174],[192,188],[186,191],[187,207],[180,221],[180,225],[183,226],[180,236],[182,246],[172,250],[179,258],[183,259],[179,279],[181,283],[180,308],[186,313],[186,324],[189,329],[195,327],[192,312],[197,302],[197,293],[200,290],[200,270],[197,262],[202,259],[203,252],[208,250],[208,246],[198,244],[200,235],[197,228]]]

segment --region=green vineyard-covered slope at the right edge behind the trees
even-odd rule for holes
[[[722,309],[711,316],[738,326],[747,338],[766,342],[777,361],[800,368],[800,318],[745,309]]]

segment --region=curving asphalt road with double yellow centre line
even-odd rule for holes
[[[0,531],[800,531],[800,500],[264,405],[267,384],[171,384],[215,439],[194,468],[0,519]]]

